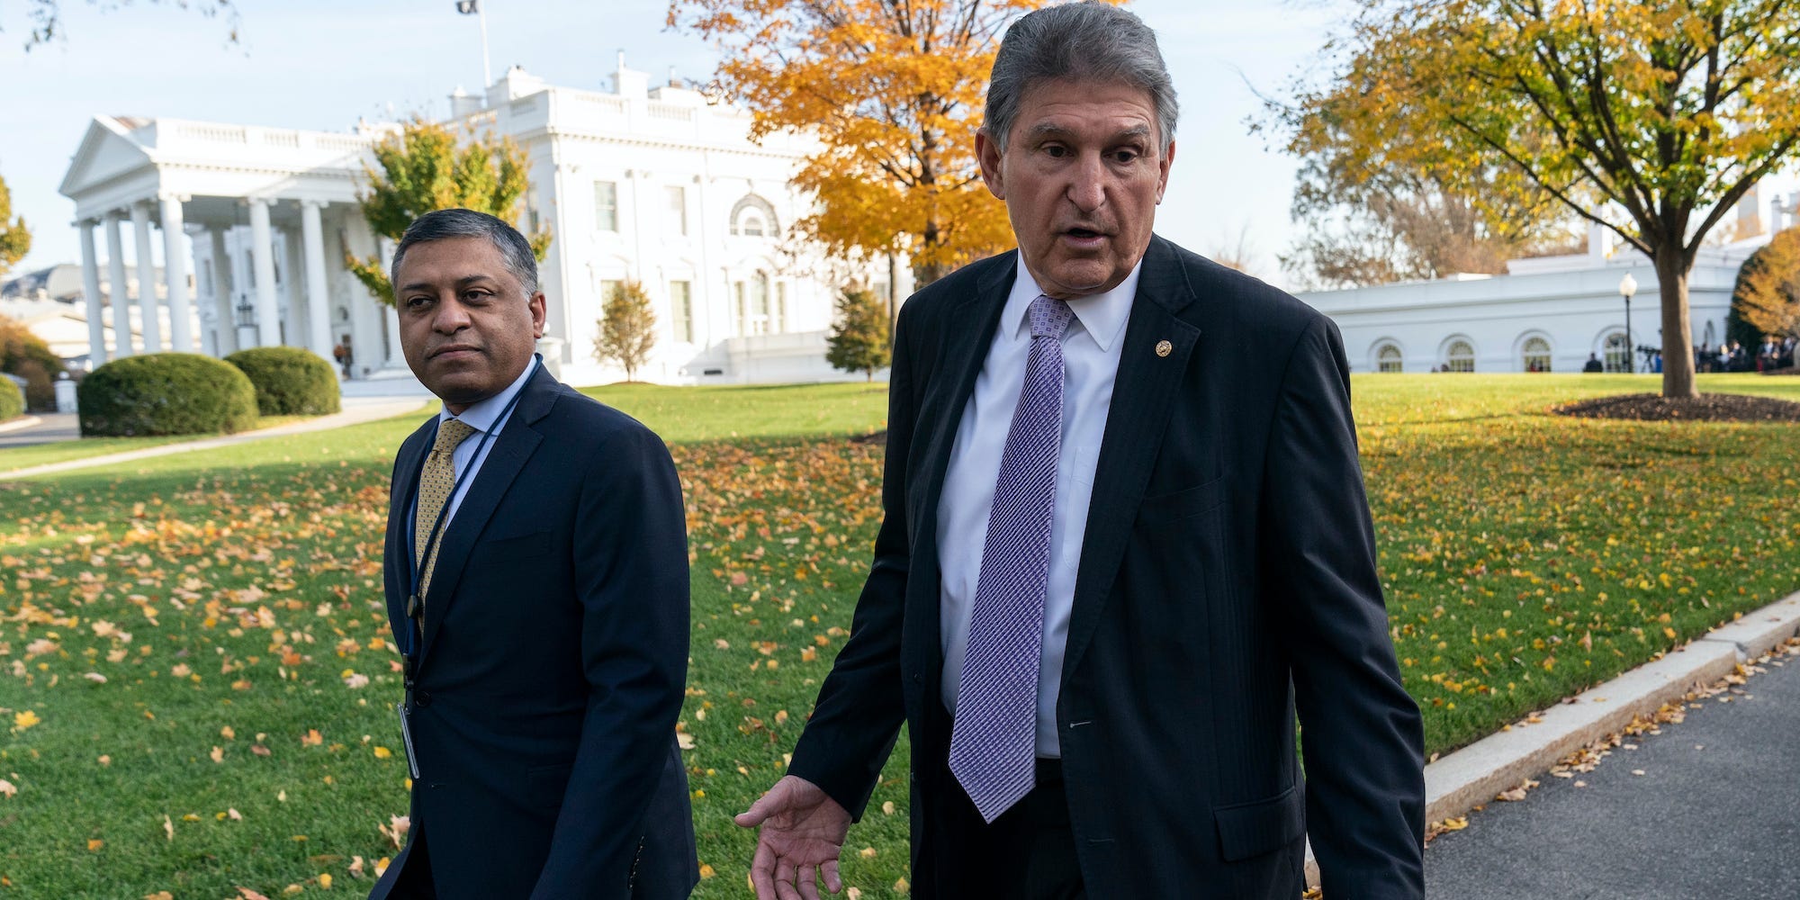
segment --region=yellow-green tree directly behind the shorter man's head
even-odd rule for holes
[[[374,234],[398,241],[412,220],[439,209],[473,209],[518,227],[520,198],[531,189],[526,151],[513,139],[495,139],[470,130],[457,139],[450,128],[414,119],[374,146],[374,162],[364,164],[367,191],[358,194],[362,218]],[[531,254],[544,261],[551,248],[549,229],[526,236]],[[344,265],[369,293],[392,306],[394,286],[380,257],[344,254]]]

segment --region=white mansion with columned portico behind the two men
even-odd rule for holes
[[[486,97],[452,97],[452,124],[508,135],[529,160],[520,225],[554,236],[540,265],[540,351],[553,369],[572,383],[625,376],[594,344],[610,288],[637,281],[659,329],[639,380],[859,378],[824,362],[824,335],[837,292],[851,279],[886,292],[886,272],[833,266],[787,239],[812,211],[790,187],[805,139],[752,144],[745,113],[650,86],[623,58],[612,81],[612,92],[560,88],[513,68]],[[92,364],[274,344],[329,360],[347,337],[351,378],[405,373],[394,311],[344,265],[346,254],[391,259],[356,194],[371,148],[396,130],[95,117],[61,185],[81,232]],[[126,241],[133,259],[167,265],[128,277]],[[101,290],[139,281],[157,290]],[[113,320],[133,324],[124,342]]]

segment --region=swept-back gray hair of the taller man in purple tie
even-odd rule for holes
[[[1150,95],[1163,153],[1175,140],[1175,85],[1156,47],[1156,32],[1132,13],[1085,0],[1039,9],[1013,22],[994,56],[988,112],[981,126],[1001,151],[1012,137],[1019,101],[1042,81],[1130,85]]]

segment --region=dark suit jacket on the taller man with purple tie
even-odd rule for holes
[[[938,495],[1015,257],[900,311],[875,565],[790,769],[860,815],[905,720],[918,896],[958,895],[925,824],[961,790],[943,767]],[[1057,702],[1089,896],[1292,898],[1307,830],[1327,896],[1424,896],[1422,729],[1388,639],[1348,387],[1328,319],[1150,241]]]

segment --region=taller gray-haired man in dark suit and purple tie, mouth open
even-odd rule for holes
[[[1019,250],[900,311],[875,563],[738,817],[763,900],[841,886],[902,722],[914,896],[1291,900],[1305,835],[1327,896],[1424,896],[1343,342],[1152,234],[1174,133],[1130,13],[1006,32],[976,151]]]

